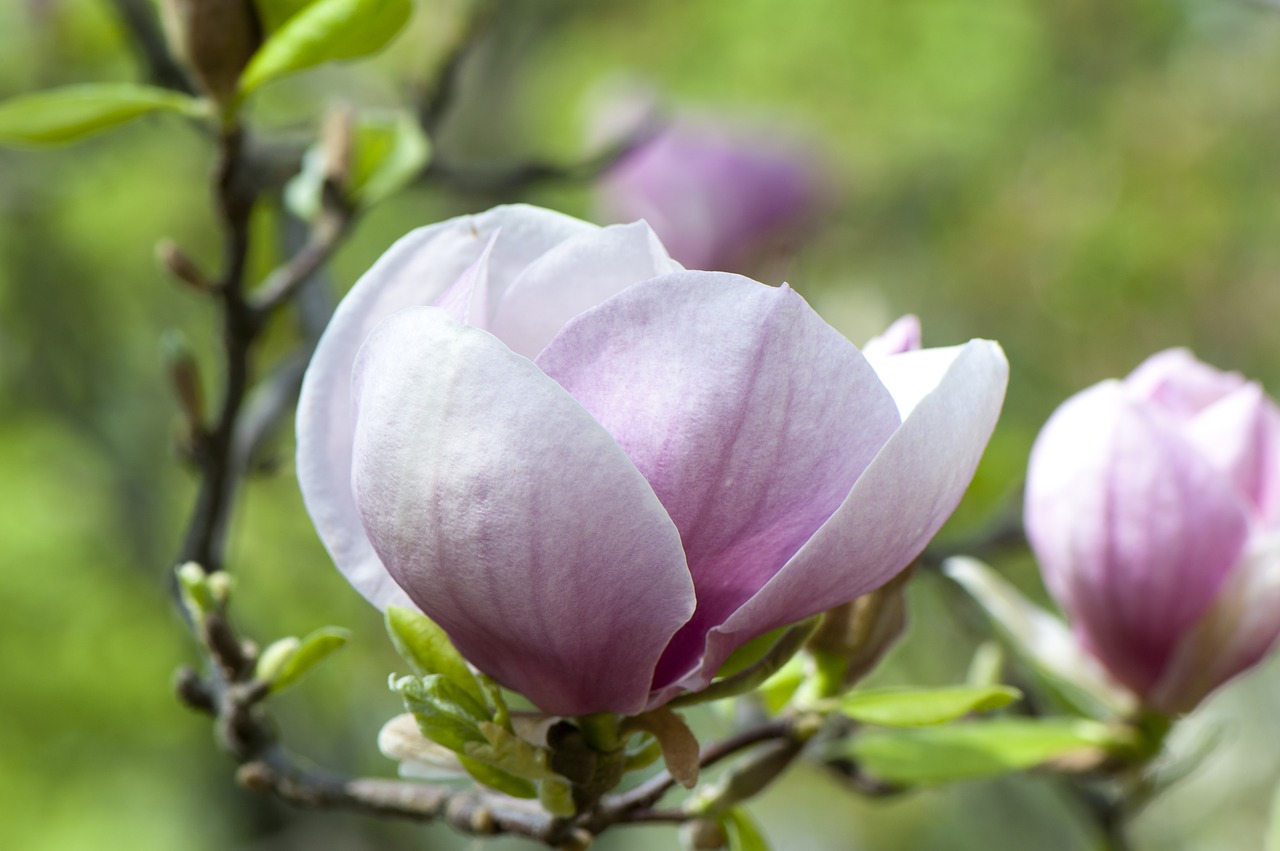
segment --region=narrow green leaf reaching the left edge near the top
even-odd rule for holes
[[[155,86],[68,86],[0,102],[0,143],[41,147],[74,142],[156,111],[207,115],[202,101]]]

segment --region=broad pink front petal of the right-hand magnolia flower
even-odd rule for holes
[[[1117,381],[1068,399],[1041,431],[1025,523],[1050,590],[1111,673],[1147,695],[1248,536],[1228,476]]]

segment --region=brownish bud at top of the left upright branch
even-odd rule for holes
[[[164,0],[164,19],[169,44],[200,88],[220,104],[230,101],[262,42],[252,0]]]

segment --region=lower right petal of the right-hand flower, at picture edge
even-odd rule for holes
[[[1280,535],[1254,539],[1204,617],[1178,645],[1151,705],[1188,712],[1257,664],[1280,636]]]

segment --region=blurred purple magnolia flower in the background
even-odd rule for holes
[[[812,151],[760,132],[677,120],[605,173],[603,215],[644,219],[687,266],[736,270],[812,223],[814,163]]]

